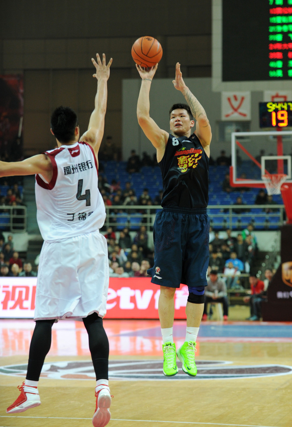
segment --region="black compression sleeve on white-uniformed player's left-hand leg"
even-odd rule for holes
[[[38,381],[41,375],[41,369],[44,360],[49,353],[52,339],[52,326],[55,319],[37,320],[35,330],[32,334],[32,340],[29,347],[29,361],[27,365],[26,379]]]

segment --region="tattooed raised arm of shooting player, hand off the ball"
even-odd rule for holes
[[[172,83],[178,91],[184,95],[194,118],[196,119],[196,134],[199,137],[204,148],[210,145],[212,133],[211,126],[206,114],[206,111],[201,106],[198,99],[192,94],[190,89],[185,85],[182,78],[181,67],[179,62],[175,66],[175,80]]]

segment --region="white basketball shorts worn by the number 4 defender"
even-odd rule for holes
[[[108,281],[108,247],[99,231],[44,242],[34,320],[105,316]]]

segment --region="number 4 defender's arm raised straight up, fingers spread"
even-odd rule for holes
[[[105,54],[102,54],[102,61],[99,54],[96,53],[97,62],[91,58],[93,65],[96,68],[96,73],[93,77],[97,79],[97,91],[94,99],[94,110],[91,113],[88,130],[82,135],[80,140],[90,143],[97,155],[100,143],[102,141],[105,128],[105,112],[108,99],[108,78],[110,75],[110,66],[112,58],[105,64]]]

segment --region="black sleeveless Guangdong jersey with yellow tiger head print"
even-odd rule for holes
[[[163,208],[207,208],[209,158],[195,134],[189,138],[169,134],[159,167]]]

